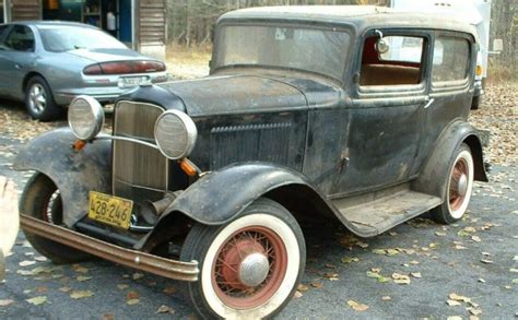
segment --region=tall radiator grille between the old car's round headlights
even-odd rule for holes
[[[143,103],[116,105],[114,134],[154,143],[154,126],[163,109]],[[133,200],[160,198],[167,190],[167,159],[160,151],[114,141],[114,194]]]

